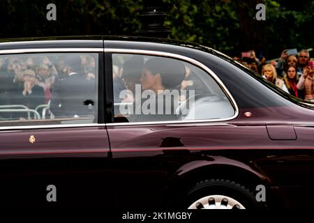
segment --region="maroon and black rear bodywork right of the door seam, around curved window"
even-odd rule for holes
[[[304,137],[313,131],[311,120],[314,118],[314,113],[312,110],[300,107],[298,101],[285,93],[276,92],[267,84],[265,86],[263,79],[255,77],[254,74],[248,75],[244,68],[241,69],[241,66],[235,68],[230,65],[229,61],[219,54],[213,56],[194,49],[160,45],[159,43],[133,43],[130,45],[127,42],[112,40],[105,41],[105,48],[172,52],[200,61],[218,75],[239,106],[239,116],[227,122],[108,126],[113,163],[117,168],[113,174],[114,182],[117,182],[114,187],[121,187],[122,190],[123,186],[121,185],[124,184],[121,180],[128,179],[129,187],[134,188],[132,194],[117,193],[116,196],[121,195],[121,199],[129,197],[133,202],[137,201],[139,205],[151,203],[149,201],[151,191],[160,191],[165,185],[167,185],[167,189],[172,185],[179,185],[179,188],[173,186],[173,191],[176,191],[180,190],[182,185],[192,186],[197,180],[204,180],[204,178],[225,177],[239,180],[241,176],[232,176],[228,173],[237,173],[237,171],[240,174],[246,173],[246,176],[251,176],[252,181],[248,183],[254,182],[255,187],[262,183],[272,190],[278,190],[280,187],[283,194],[285,192],[293,194],[299,192],[300,186],[304,186],[308,188],[309,197],[314,195],[312,192],[314,181],[308,177],[313,174],[313,144],[311,137]],[[283,97],[286,100],[283,100]],[[249,118],[244,116],[245,112],[251,112],[252,116]],[[293,120],[295,123],[292,122]],[[304,127],[304,125],[308,125],[308,127]],[[302,134],[297,139],[297,132],[300,130],[308,133]],[[167,143],[163,143],[164,141]],[[237,155],[229,152],[235,150],[241,151],[241,153]],[[170,154],[175,152],[173,156],[179,156],[181,159],[174,162],[175,159],[171,159],[171,156],[167,155],[169,152]],[[249,154],[253,155],[249,156]],[[150,176],[150,178],[156,180],[159,177],[159,180],[156,180],[158,183],[145,184],[149,181],[145,170],[153,163],[158,163],[155,161],[156,156],[160,157],[159,167],[154,166],[154,171],[150,172],[158,174]],[[204,156],[214,160],[204,162]],[[221,157],[228,162],[219,161]],[[237,163],[242,165],[237,166]],[[176,167],[186,167],[188,164],[190,164],[189,171],[178,176]],[[212,174],[211,166],[214,166],[219,174]],[[184,175],[188,178],[190,172],[198,175],[198,178],[186,182]],[[134,176],[133,173],[135,173]],[[162,173],[167,173],[167,175]],[[281,176],[285,176],[285,178],[281,178]],[[181,185],[176,182],[178,180],[183,180],[184,183]],[[137,187],[139,182],[142,187]],[[165,183],[160,185],[159,182]],[[145,188],[149,188],[149,190],[145,190]],[[139,194],[143,194],[143,196],[138,196]],[[172,193],[166,194],[172,196]],[[297,208],[298,202],[304,200],[303,197],[297,198],[298,201],[294,199],[291,202],[287,199],[283,206]],[[311,202],[303,202],[311,206]]]

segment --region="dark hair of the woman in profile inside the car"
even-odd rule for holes
[[[154,57],[146,61],[144,68],[153,75],[159,73],[162,78],[162,84],[166,89],[173,89],[181,84],[184,77],[186,77],[184,63],[176,59]]]

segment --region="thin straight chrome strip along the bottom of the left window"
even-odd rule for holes
[[[74,128],[74,127],[105,127],[105,124],[68,124],[68,125],[20,125],[20,126],[1,126],[0,130],[36,130],[46,128]],[[0,132],[1,133],[1,132]]]

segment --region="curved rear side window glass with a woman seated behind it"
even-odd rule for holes
[[[207,72],[163,56],[112,54],[115,122],[230,118],[234,107]]]

